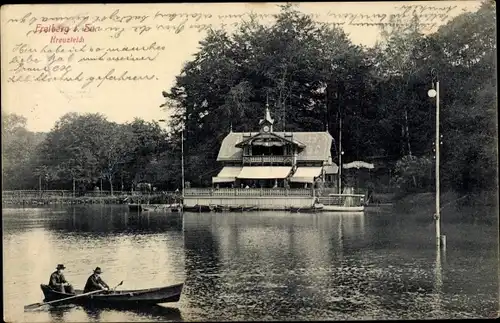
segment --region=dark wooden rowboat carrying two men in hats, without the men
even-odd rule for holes
[[[60,301],[56,304],[67,305],[104,305],[104,306],[140,306],[154,305],[160,303],[171,303],[179,301],[182,293],[183,283],[167,287],[139,289],[139,290],[120,290],[104,292],[103,294],[93,294],[88,296],[76,297],[67,301]],[[44,302],[50,302],[75,296],[72,294],[61,293],[52,290],[48,285],[40,285],[45,296]],[[82,290],[75,290],[76,295],[83,294]]]

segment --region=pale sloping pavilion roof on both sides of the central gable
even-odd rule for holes
[[[217,161],[241,161],[243,150],[237,148],[236,145],[247,136],[252,137],[257,133],[230,132],[222,141]],[[275,134],[285,137],[284,132],[275,132]],[[292,132],[291,134],[294,140],[305,145],[305,148],[297,155],[297,161],[328,161],[331,158],[330,148],[333,138],[328,132]]]

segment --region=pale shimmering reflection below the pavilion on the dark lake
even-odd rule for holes
[[[217,295],[239,302],[253,297],[255,288],[328,302],[327,289],[334,287],[325,284],[342,267],[344,239],[360,236],[360,223],[359,216],[336,214],[185,214],[187,277],[200,288],[216,284]],[[200,272],[213,276],[196,282]]]

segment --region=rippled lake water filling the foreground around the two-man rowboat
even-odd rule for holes
[[[428,319],[496,316],[498,226],[405,215],[129,213],[126,206],[3,209],[4,320]],[[58,263],[82,288],[96,266],[123,289],[184,282],[141,310],[24,312]]]

